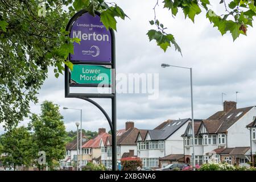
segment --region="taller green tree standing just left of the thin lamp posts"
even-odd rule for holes
[[[32,114],[30,129],[34,131],[33,142],[35,143],[35,159],[39,151],[46,152],[46,163],[50,169],[55,167],[56,161],[65,157],[65,126],[63,116],[59,113],[59,106],[49,101],[41,105],[40,115]],[[39,170],[46,165],[36,163]]]

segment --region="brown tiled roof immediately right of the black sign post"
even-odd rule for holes
[[[136,127],[128,129],[117,140],[117,145],[137,145],[136,140],[140,131],[144,133],[144,130],[139,130]]]

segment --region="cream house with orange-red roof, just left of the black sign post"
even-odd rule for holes
[[[101,140],[105,143],[106,139],[110,134],[106,133],[106,129],[98,129],[98,135],[93,139],[88,140],[88,142],[82,145],[82,164],[85,166],[88,162],[95,164],[100,164],[101,161]],[[80,159],[80,158],[79,158]]]

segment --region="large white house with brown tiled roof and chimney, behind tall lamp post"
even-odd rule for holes
[[[250,134],[246,129],[254,116],[256,107],[237,109],[236,102],[225,101],[224,109],[203,121],[195,121],[195,160],[196,164],[209,160],[246,166],[250,160]],[[185,162],[191,163],[192,123],[189,123],[184,137]]]

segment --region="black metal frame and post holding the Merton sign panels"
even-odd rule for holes
[[[88,13],[86,10],[81,10],[77,12],[68,22],[66,31],[71,31],[71,28],[73,26],[73,23],[77,18],[79,18],[81,15]],[[98,16],[100,16],[100,13],[95,12]],[[112,40],[112,61],[111,63],[105,63],[105,62],[93,62],[93,61],[74,61],[71,62],[73,64],[86,64],[86,65],[111,65],[112,67],[112,84],[110,85],[112,88],[112,93],[70,93],[69,87],[70,86],[85,86],[85,85],[79,85],[79,84],[71,84],[71,75],[69,72],[69,68],[67,65],[65,65],[65,98],[80,98],[82,100],[88,101],[91,104],[95,105],[102,111],[102,113],[105,115],[106,119],[108,120],[110,129],[112,131],[112,170],[115,171],[117,169],[117,140],[116,140],[116,131],[117,131],[117,98],[115,93],[115,36],[114,31],[112,29],[109,30],[111,34],[111,40]],[[71,60],[71,55],[68,57],[69,60]],[[87,87],[93,87],[98,85],[90,85],[87,84]],[[106,113],[106,111],[95,101],[93,101],[91,98],[111,98],[112,100],[112,119],[110,119],[109,115]]]

